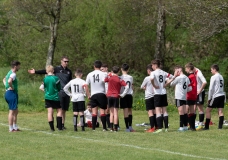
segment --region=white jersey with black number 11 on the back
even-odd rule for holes
[[[64,92],[71,96],[72,102],[85,101],[85,86],[86,82],[81,78],[75,78],[65,85]],[[69,88],[71,92],[69,92]]]

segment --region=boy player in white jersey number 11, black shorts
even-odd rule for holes
[[[82,127],[82,131],[85,131],[85,91],[88,92],[88,87],[86,82],[81,79],[82,78],[82,70],[77,69],[75,72],[75,79],[71,80],[69,83],[65,85],[63,88],[64,92],[71,97],[71,101],[73,103],[73,123],[74,123],[74,131],[78,131],[77,129],[77,119],[78,114],[80,115],[80,124]],[[69,88],[71,88],[71,92],[69,92]],[[88,95],[88,93],[87,93]]]

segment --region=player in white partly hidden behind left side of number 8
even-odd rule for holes
[[[149,64],[147,65],[147,74],[149,76],[145,77],[141,85],[141,89],[145,90],[146,110],[148,112],[149,122],[150,122],[150,129],[147,130],[146,132],[154,132],[155,131],[154,126],[157,126],[156,113],[155,113],[155,107],[154,107],[154,88],[150,80],[151,72],[153,72],[153,69],[152,69],[152,65]]]

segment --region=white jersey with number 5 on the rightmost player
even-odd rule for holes
[[[221,74],[216,73],[215,75],[211,76],[210,87],[208,92],[208,100],[211,100],[223,95],[225,95],[224,79]]]

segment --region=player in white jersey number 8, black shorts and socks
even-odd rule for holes
[[[156,111],[156,120],[158,129],[154,133],[162,132],[162,124],[164,120],[165,132],[168,132],[168,112],[166,107],[168,106],[165,81],[166,79],[175,78],[171,74],[160,69],[161,62],[158,59],[155,59],[151,62],[153,72],[151,73],[151,83],[154,87],[154,106]],[[162,117],[162,114],[164,117]]]

